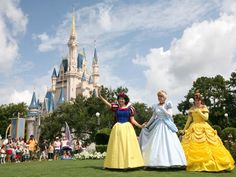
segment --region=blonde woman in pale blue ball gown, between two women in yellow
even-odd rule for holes
[[[144,165],[152,168],[184,167],[186,158],[172,118],[172,104],[165,103],[167,94],[157,93],[159,103],[152,106],[153,115],[142,129],[139,143]]]

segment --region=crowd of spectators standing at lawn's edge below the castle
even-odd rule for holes
[[[69,142],[66,137],[56,137],[55,140],[39,142],[31,135],[28,140],[14,139],[10,135],[0,144],[0,164],[6,162],[27,162],[31,160],[70,159],[73,153],[83,150],[79,139]]]

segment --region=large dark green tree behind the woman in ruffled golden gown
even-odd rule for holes
[[[221,75],[198,78],[193,82],[193,87],[185,96],[185,100],[178,105],[178,109],[184,115],[187,114],[187,110],[191,107],[189,99],[193,98],[196,90],[200,90],[203,101],[209,108],[209,121],[213,125],[226,127],[227,121],[224,114],[227,110],[227,81]]]

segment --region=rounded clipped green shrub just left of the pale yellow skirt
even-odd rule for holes
[[[106,145],[108,144],[109,136],[111,133],[110,128],[103,128],[98,130],[95,135],[95,142],[97,145]]]

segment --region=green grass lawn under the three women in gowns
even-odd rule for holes
[[[232,172],[207,173],[186,172],[185,170],[104,170],[103,160],[59,160],[43,162],[24,162],[0,164],[1,177],[230,177],[236,176]]]

